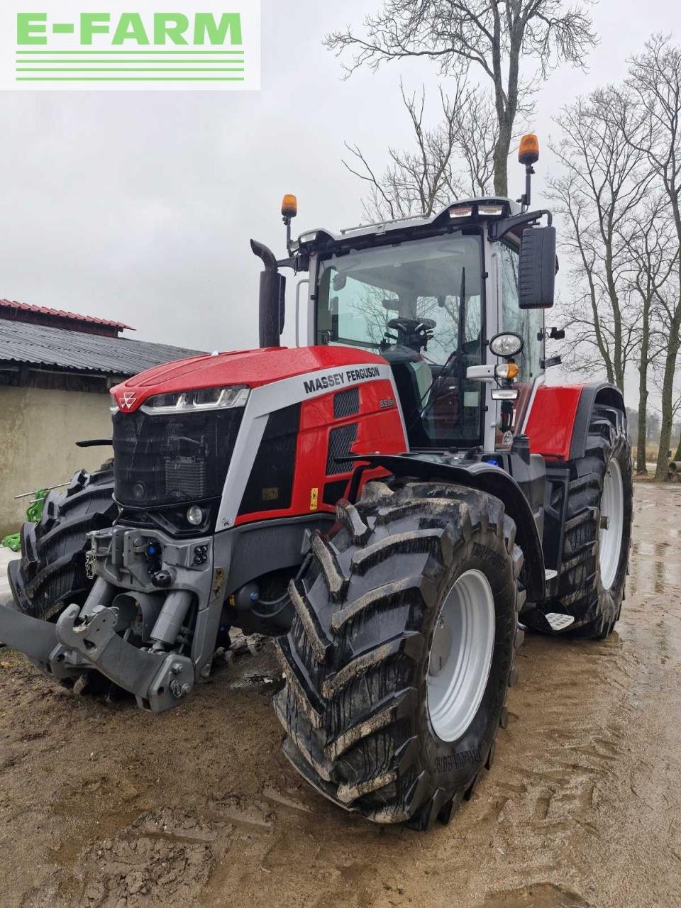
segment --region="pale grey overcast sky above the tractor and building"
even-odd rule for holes
[[[295,232],[359,222],[362,186],[341,165],[343,140],[380,169],[386,146],[409,140],[400,74],[436,90],[424,63],[341,80],[321,39],[379,2],[262,0],[258,93],[0,93],[0,297],[126,321],[143,340],[254,346],[249,239],[283,254],[283,192],[298,195]],[[544,149],[536,203],[559,106],[620,79],[651,33],[681,34],[677,0],[601,0],[593,19],[600,44],[587,73],[553,74],[528,124]],[[515,163],[509,183],[519,194]]]

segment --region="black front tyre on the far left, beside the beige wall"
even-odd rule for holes
[[[68,489],[48,494],[40,521],[21,528],[21,559],[7,568],[18,608],[56,621],[66,606],[84,604],[94,583],[85,573],[87,534],[113,524],[113,496],[113,460],[94,473],[80,470]]]

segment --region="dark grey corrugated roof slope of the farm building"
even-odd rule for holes
[[[0,319],[0,361],[105,375],[136,375],[163,362],[201,356],[163,343],[82,334]]]

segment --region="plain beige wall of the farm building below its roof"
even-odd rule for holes
[[[14,496],[96,469],[111,448],[80,449],[80,439],[111,438],[111,397],[80,390],[0,386],[0,538],[21,527],[31,498]]]

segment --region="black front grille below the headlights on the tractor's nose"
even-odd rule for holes
[[[114,497],[149,508],[222,495],[243,409],[114,414]]]

